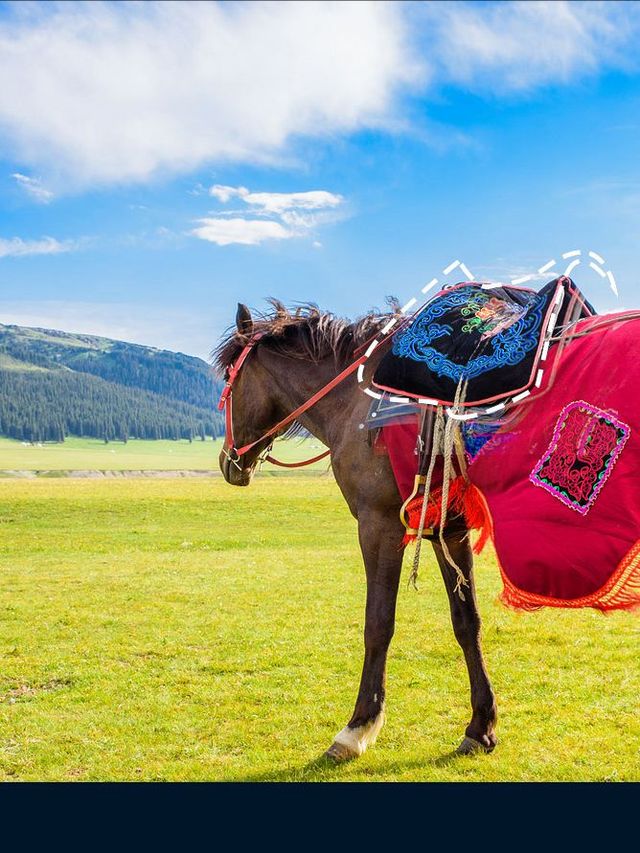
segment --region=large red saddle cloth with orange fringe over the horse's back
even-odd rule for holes
[[[551,351],[520,419],[469,464],[513,607],[640,607],[640,320],[603,319],[580,322],[594,331],[564,349],[553,381]],[[416,429],[404,451],[399,433],[385,441],[395,468],[405,454],[403,497]]]

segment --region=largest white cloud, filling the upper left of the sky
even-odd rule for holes
[[[70,185],[273,159],[387,121],[401,4],[55,3],[0,23],[0,154]]]

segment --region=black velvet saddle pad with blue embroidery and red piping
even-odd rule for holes
[[[463,384],[460,405],[514,397],[535,384],[556,325],[594,313],[566,276],[539,292],[462,282],[399,327],[373,384],[425,405],[453,405]]]

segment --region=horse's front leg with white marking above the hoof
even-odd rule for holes
[[[388,513],[358,516],[358,535],[367,574],[364,665],[353,715],[325,755],[334,761],[357,758],[371,746],[384,724],[387,651],[395,626],[402,569],[399,520]]]

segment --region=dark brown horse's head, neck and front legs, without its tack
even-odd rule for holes
[[[280,303],[273,304],[273,314],[256,320],[246,306],[239,305],[236,329],[216,351],[218,367],[226,370],[247,342],[261,333],[233,385],[237,447],[262,436],[340,373],[353,361],[358,347],[388,319],[369,315],[357,323],[347,323],[314,307],[292,314]],[[375,364],[372,357],[368,370],[374,369]],[[387,651],[394,631],[402,568],[404,528],[399,518],[398,488],[388,458],[374,454],[367,430],[361,427],[369,402],[352,374],[298,419],[301,427],[331,450],[336,482],[358,521],[367,576],[362,677],[353,715],[326,753],[336,761],[361,755],[375,741],[384,723]],[[232,462],[225,442],[220,467],[226,481],[248,486],[261,453],[270,443],[271,439],[266,438]],[[490,751],[496,744],[496,705],[480,647],[471,549],[459,526],[445,529],[444,539],[469,583],[463,600],[455,593],[455,572],[441,545],[434,541],[449,595],[453,630],[471,684],[471,722],[458,751]]]

